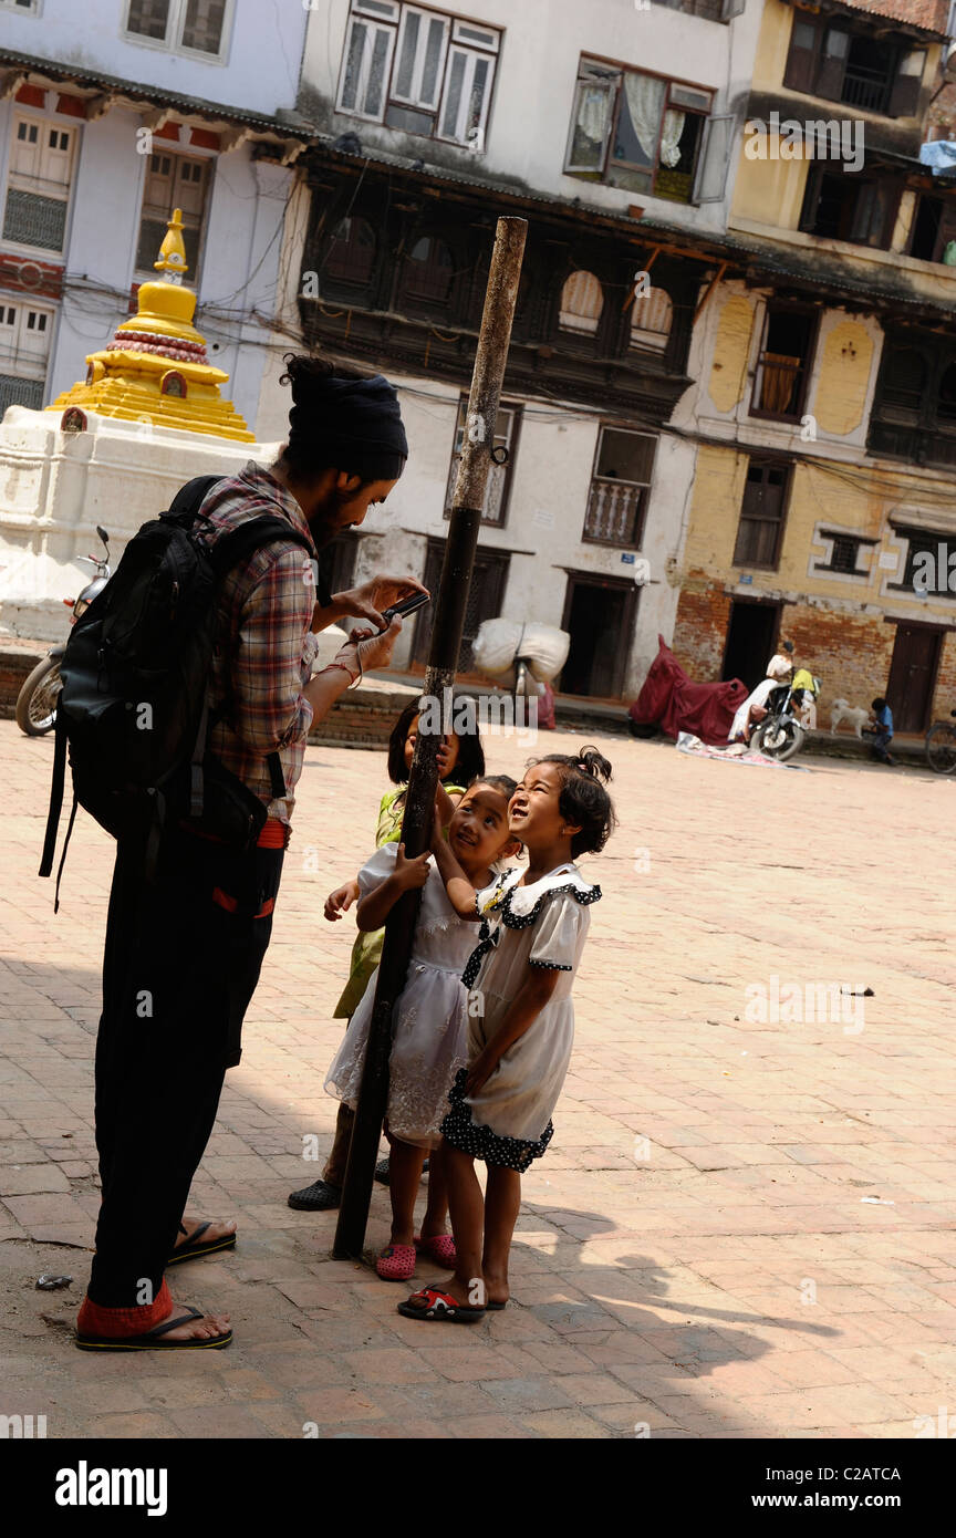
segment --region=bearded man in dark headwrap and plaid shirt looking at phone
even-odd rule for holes
[[[407,441],[387,380],[307,357],[286,365],[289,441],[271,469],[251,461],[212,486],[201,506],[211,540],[272,514],[315,552],[360,524],[404,469]],[[364,669],[389,661],[401,620],[383,629],[381,611],[423,591],[412,578],[380,577],[323,608],[314,571],[301,540],[277,540],[229,571],[218,591],[209,751],[266,806],[257,846],[243,852],[180,823],[164,837],[152,883],[135,841],[117,847],[95,1072],[103,1192],[77,1321],[77,1344],[88,1350],[215,1349],[232,1340],[227,1315],[174,1306],[164,1270],[235,1244],[234,1224],[183,1213],[224,1072],[240,1061],[309,727]],[[310,677],[312,632],[346,615],[370,624]]]

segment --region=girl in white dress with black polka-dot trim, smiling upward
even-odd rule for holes
[[[613,829],[602,783],[610,772],[595,749],[532,764],[509,804],[527,871],[507,871],[484,889],[476,891],[458,849],[437,831],[435,860],[449,901],[460,917],[480,918],[481,930],[463,974],[473,990],[469,1066],[456,1075],[441,1123],[455,1275],[444,1290],[424,1287],[400,1303],[407,1318],[472,1323],[509,1300],[521,1173],[552,1138],[575,1034],[572,986],[589,909],[601,897],[573,861],[601,851]],[[484,1197],[476,1158],[487,1166]]]

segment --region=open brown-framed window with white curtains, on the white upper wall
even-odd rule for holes
[[[564,171],[690,203],[712,106],[713,91],[583,58]]]

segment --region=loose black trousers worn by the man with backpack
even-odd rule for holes
[[[168,840],[155,884],[120,843],[109,897],[95,1124],[103,1197],[89,1297],[152,1303],[212,1132],[272,932],[281,849]]]

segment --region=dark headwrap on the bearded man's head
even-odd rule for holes
[[[289,366],[294,406],[286,457],[363,480],[398,480],[409,457],[398,394],[381,374],[352,378]]]

